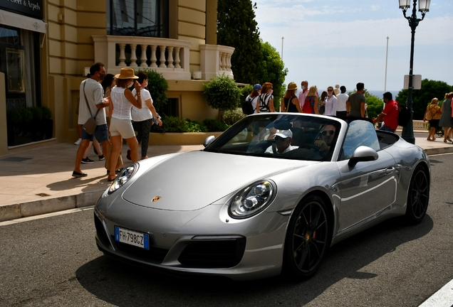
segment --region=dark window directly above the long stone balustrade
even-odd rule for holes
[[[168,38],[168,0],[108,0],[107,33]]]

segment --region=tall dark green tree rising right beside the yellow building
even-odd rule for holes
[[[219,0],[217,43],[234,47],[231,70],[236,82],[259,83],[261,43],[255,21],[256,4],[250,0]]]

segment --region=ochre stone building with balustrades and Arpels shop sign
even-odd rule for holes
[[[157,70],[169,83],[167,114],[216,119],[203,83],[233,77],[234,52],[216,33],[217,0],[0,1],[0,156],[77,140],[79,86],[95,62],[112,74]],[[53,137],[11,143],[27,132],[7,126],[6,110],[38,106],[51,109]]]

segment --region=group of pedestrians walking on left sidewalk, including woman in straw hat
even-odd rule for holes
[[[99,160],[105,160],[108,181],[114,181],[123,167],[123,139],[129,146],[127,158],[132,162],[139,160],[140,142],[141,159],[147,158],[151,126],[153,123],[162,126],[147,84],[147,75],[144,72],[135,75],[132,68],[121,68],[118,75],[112,75],[106,73],[102,63],[95,63],[90,67],[90,73],[80,83],[79,89],[79,139],[75,142],[79,147],[73,177],[88,176],[83,173],[80,164],[94,162],[88,158],[91,144]],[[132,126],[132,121],[135,127]],[[137,136],[135,130],[138,131]]]

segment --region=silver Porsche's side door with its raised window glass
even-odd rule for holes
[[[349,166],[349,158],[358,146],[375,149],[378,158]],[[351,122],[343,142],[343,153],[343,160],[338,161],[339,231],[375,218],[395,202],[397,190],[395,159],[380,150],[373,124],[362,120]]]

